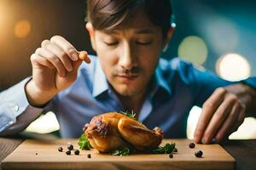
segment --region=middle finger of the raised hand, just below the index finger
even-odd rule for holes
[[[59,46],[57,46],[53,42],[49,42],[44,48],[46,48],[49,52],[55,54],[59,59],[61,59],[61,62],[67,71],[73,70],[72,60]]]

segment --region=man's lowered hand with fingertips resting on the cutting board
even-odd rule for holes
[[[236,94],[230,93],[229,87],[217,88],[202,106],[195,128],[195,143],[210,144],[212,139],[218,143],[227,138],[244,121],[246,106]]]

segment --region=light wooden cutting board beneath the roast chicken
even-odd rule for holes
[[[162,144],[175,142],[177,153],[173,158],[168,154],[137,154],[111,156],[99,154],[96,150],[80,150],[79,156],[73,151],[67,156],[67,144],[79,149],[78,139],[41,141],[27,139],[7,156],[3,169],[235,169],[235,160],[218,144],[196,144],[189,148],[188,139],[164,139]],[[161,145],[162,145],[161,144]],[[61,146],[63,152],[58,151]],[[195,157],[195,150],[202,150],[201,158]],[[88,158],[88,154],[91,158]]]

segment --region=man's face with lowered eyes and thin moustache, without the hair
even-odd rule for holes
[[[142,11],[120,29],[95,31],[94,48],[113,89],[122,96],[142,94],[160,59],[162,31]]]

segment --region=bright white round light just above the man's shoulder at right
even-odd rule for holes
[[[219,58],[216,71],[218,76],[229,81],[239,81],[251,75],[250,64],[240,54],[225,54]]]

